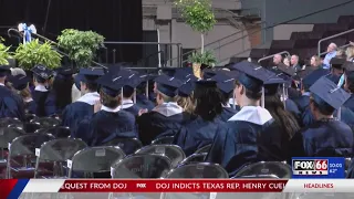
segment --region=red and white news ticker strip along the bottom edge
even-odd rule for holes
[[[0,199],[28,192],[354,192],[351,179],[8,179]]]

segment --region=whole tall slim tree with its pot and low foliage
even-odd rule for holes
[[[207,52],[205,54],[204,50],[204,36],[205,34],[212,30],[215,23],[217,22],[211,9],[210,0],[177,0],[175,2],[177,8],[181,12],[181,17],[185,19],[186,23],[194,30],[200,33],[200,52],[194,53],[189,60],[192,61],[192,67],[195,75],[200,77],[200,65],[210,64],[205,63],[212,53]],[[211,59],[215,61],[215,57]],[[215,61],[216,62],[216,61]],[[215,63],[214,62],[214,63]]]

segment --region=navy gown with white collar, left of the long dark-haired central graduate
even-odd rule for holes
[[[143,145],[149,145],[156,138],[174,136],[189,117],[177,103],[158,105],[137,117],[139,139]]]

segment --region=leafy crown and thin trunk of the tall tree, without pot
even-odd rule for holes
[[[177,0],[175,2],[186,23],[200,33],[201,54],[204,53],[204,34],[212,30],[217,22],[210,0]]]

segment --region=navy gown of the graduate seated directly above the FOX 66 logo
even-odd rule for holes
[[[299,132],[294,138],[292,146],[293,151],[296,151],[295,156],[353,156],[353,132],[340,121],[316,121]]]

